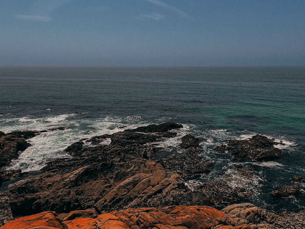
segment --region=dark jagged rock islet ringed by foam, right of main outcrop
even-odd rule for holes
[[[283,144],[274,141],[274,138],[267,138],[262,135],[255,135],[245,140],[228,140],[227,145],[215,147],[215,151],[224,153],[228,151],[235,158],[245,158],[256,161],[270,161],[282,156],[282,150],[274,145]]]

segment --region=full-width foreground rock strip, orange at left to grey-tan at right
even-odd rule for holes
[[[287,229],[304,228],[305,211],[268,213],[250,203],[230,205],[221,211],[208,206],[130,208],[97,214],[94,210],[57,215],[42,212],[13,220],[1,229]]]

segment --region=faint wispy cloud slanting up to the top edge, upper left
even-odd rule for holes
[[[50,14],[69,0],[37,0],[29,14],[18,14],[17,18],[28,21],[51,21]]]

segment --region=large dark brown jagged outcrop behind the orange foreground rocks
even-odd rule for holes
[[[131,207],[209,203],[201,189],[193,192],[185,181],[208,173],[212,162],[202,160],[192,150],[159,153],[166,149],[147,145],[176,136],[169,130],[181,127],[174,123],[150,125],[72,144],[66,149],[72,158],[51,160],[40,174],[9,185],[13,214],[68,213],[88,208],[103,213]],[[160,130],[163,132],[156,132]],[[109,138],[110,145],[101,144]],[[196,138],[184,139],[195,139],[190,147],[198,146]],[[94,147],[83,148],[84,141],[94,142]],[[215,200],[218,202],[224,201]]]

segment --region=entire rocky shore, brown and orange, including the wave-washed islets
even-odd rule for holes
[[[70,158],[51,160],[35,175],[10,184],[1,193],[0,223],[6,223],[1,228],[305,227],[304,211],[279,216],[249,203],[236,204],[250,191],[229,187],[228,180],[189,185],[188,180],[213,169],[211,161],[198,155],[199,139],[188,134],[179,147],[156,146],[158,141],[176,137],[175,129],[182,127],[176,123],[149,125],[72,144],[66,148]],[[16,158],[18,151],[29,146],[27,136],[37,134],[1,132],[0,154]],[[215,150],[261,161],[281,156],[282,150],[273,147],[275,144],[274,139],[257,135],[230,140]],[[10,160],[3,158],[2,166]],[[236,170],[245,176],[252,173],[251,168]],[[2,169],[0,175],[2,180],[12,180],[24,174]],[[291,188],[274,190],[274,197],[299,193],[303,178],[295,179]],[[224,208],[219,211],[213,208],[216,205]],[[24,217],[14,220],[20,216]]]

